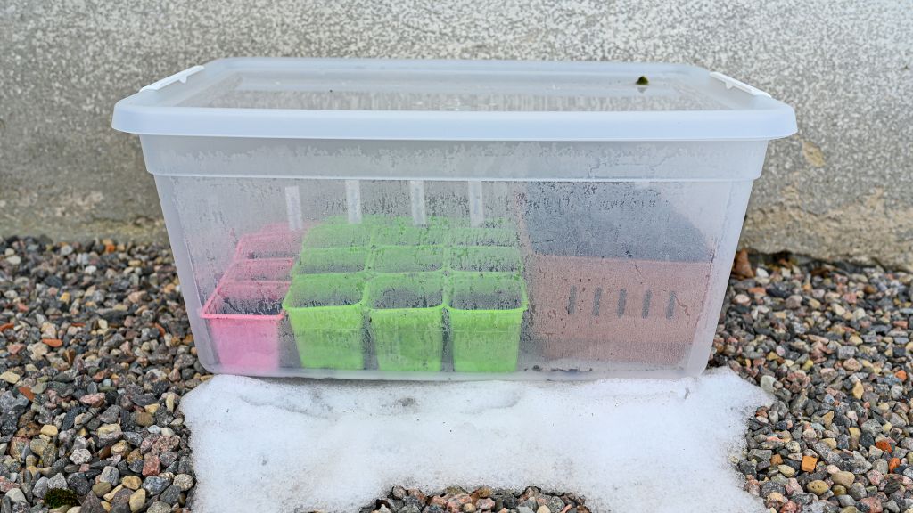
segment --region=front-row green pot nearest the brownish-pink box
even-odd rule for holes
[[[456,275],[447,313],[456,372],[514,372],[526,284],[516,274]]]

